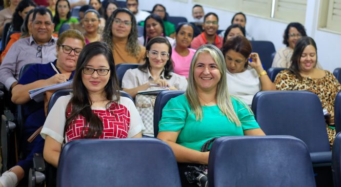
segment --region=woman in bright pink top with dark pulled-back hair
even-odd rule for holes
[[[188,48],[193,39],[194,28],[189,23],[179,24],[176,28],[176,46],[172,49],[174,73],[188,78],[189,68],[195,50]]]

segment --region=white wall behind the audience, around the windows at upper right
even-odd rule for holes
[[[209,1],[209,0],[208,0]],[[341,34],[334,34],[317,29],[318,9],[321,0],[307,1],[306,23],[307,34],[314,38],[318,48],[318,61],[324,69],[333,71],[341,67],[338,54],[341,54]],[[171,16],[184,16],[190,22],[192,19],[192,0],[188,3],[172,0],[139,0],[139,9],[151,10],[157,3],[163,4]],[[205,13],[215,12],[219,16],[219,29],[225,30],[231,23],[235,12],[225,11],[204,6]],[[276,50],[284,47],[283,32],[288,23],[260,18],[247,14],[246,30],[255,40],[270,40]],[[341,24],[341,23],[340,23]]]

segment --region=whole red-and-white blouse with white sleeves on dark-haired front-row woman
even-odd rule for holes
[[[83,116],[77,116],[64,134],[66,117],[71,112],[71,107],[70,109],[67,107],[70,99],[71,95],[62,96],[52,107],[41,131],[44,139],[46,135],[49,135],[63,143],[64,138],[68,142],[74,139],[83,139],[86,135],[88,127],[84,126],[85,118]],[[92,112],[103,121],[104,130],[99,139],[130,138],[145,129],[133,101],[127,97],[120,97],[118,103],[112,102],[107,109],[92,108]],[[86,129],[83,133],[84,127]]]

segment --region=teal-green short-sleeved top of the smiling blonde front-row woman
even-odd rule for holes
[[[195,120],[185,95],[170,99],[162,111],[159,131],[180,131],[176,143],[190,149],[200,151],[204,143],[214,137],[243,136],[244,130],[259,128],[253,114],[242,101],[231,97],[241,127],[232,123],[220,112],[218,106],[203,108],[203,119]],[[245,107],[246,106],[246,107]]]

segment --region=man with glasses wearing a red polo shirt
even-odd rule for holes
[[[217,35],[219,19],[218,15],[210,12],[204,17],[204,32],[196,36],[191,43],[191,48],[198,49],[204,44],[213,44],[217,48],[223,47],[223,38]]]

